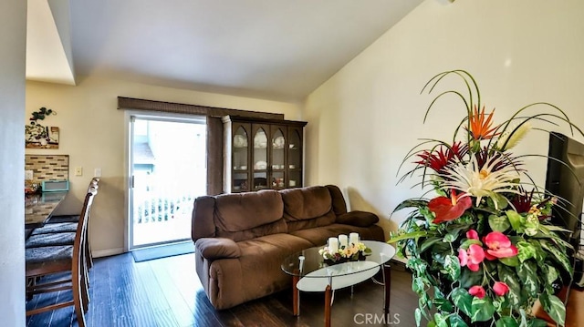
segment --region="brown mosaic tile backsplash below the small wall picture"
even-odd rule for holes
[[[25,170],[33,170],[33,180],[69,179],[68,155],[26,155]]]

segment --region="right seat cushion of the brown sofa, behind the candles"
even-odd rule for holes
[[[380,226],[377,225],[370,227],[359,227],[334,223],[328,226],[322,226],[308,230],[295,230],[290,232],[290,234],[310,241],[312,246],[320,246],[327,244],[328,238],[338,237],[339,234],[349,235],[351,232],[359,233],[361,240],[385,241],[384,231]]]

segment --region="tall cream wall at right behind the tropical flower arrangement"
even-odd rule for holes
[[[452,139],[465,114],[461,103],[446,99],[422,124],[438,92],[420,91],[445,70],[474,76],[482,102],[496,108],[495,123],[547,101],[584,128],[582,16],[580,0],[426,0],[308,97],[308,184],[348,189],[353,209],[373,210],[386,230],[395,229],[405,212],[390,220],[391,211],[422,195],[410,189],[419,179],[396,185],[401,160],[419,138]],[[454,79],[440,87],[448,89],[464,91]],[[547,154],[547,134],[531,132],[516,153]],[[543,185],[545,159],[527,160],[526,168]]]

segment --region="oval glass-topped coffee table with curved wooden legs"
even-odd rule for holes
[[[333,291],[367,281],[378,271],[383,271],[385,292],[383,309],[389,313],[391,291],[391,267],[389,261],[395,255],[395,249],[381,241],[362,240],[371,249],[371,254],[364,261],[349,261],[328,265],[318,250],[323,246],[301,250],[288,256],[282,262],[282,271],[292,275],[293,312],[300,313],[299,291],[325,292],[325,326],[330,326],[330,306]]]

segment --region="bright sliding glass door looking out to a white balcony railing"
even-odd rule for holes
[[[130,116],[130,250],[191,239],[206,194],[205,118]]]

